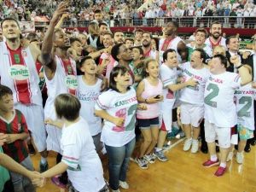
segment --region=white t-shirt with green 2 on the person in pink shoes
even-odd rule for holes
[[[205,119],[218,127],[233,127],[237,124],[235,90],[241,78],[236,73],[211,73],[204,95]]]

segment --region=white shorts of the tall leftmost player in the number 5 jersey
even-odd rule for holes
[[[39,105],[24,105],[15,103],[15,108],[23,113],[27,128],[32,133],[32,137],[38,152],[42,152],[46,149],[46,131],[44,125],[44,109]]]

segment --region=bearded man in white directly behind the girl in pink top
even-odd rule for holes
[[[143,32],[143,56],[144,58],[151,58],[159,61],[159,52],[157,50],[151,49],[152,36],[149,32]]]

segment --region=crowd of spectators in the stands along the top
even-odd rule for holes
[[[18,20],[33,20],[36,15],[51,17],[61,0],[2,0],[0,18],[13,16]],[[256,17],[255,0],[70,0],[69,20],[92,20],[94,11],[102,9],[104,20],[115,20],[119,26],[162,26],[163,17],[236,16],[236,26]],[[243,19],[244,17],[245,19]],[[121,21],[120,21],[121,20]],[[133,22],[132,22],[133,21]],[[224,26],[229,26],[225,18]],[[195,26],[195,20],[193,26]]]

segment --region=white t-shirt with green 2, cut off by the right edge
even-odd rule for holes
[[[241,86],[235,91],[235,102],[237,110],[237,124],[245,126],[247,129],[254,130],[254,99],[256,90],[252,84]]]

